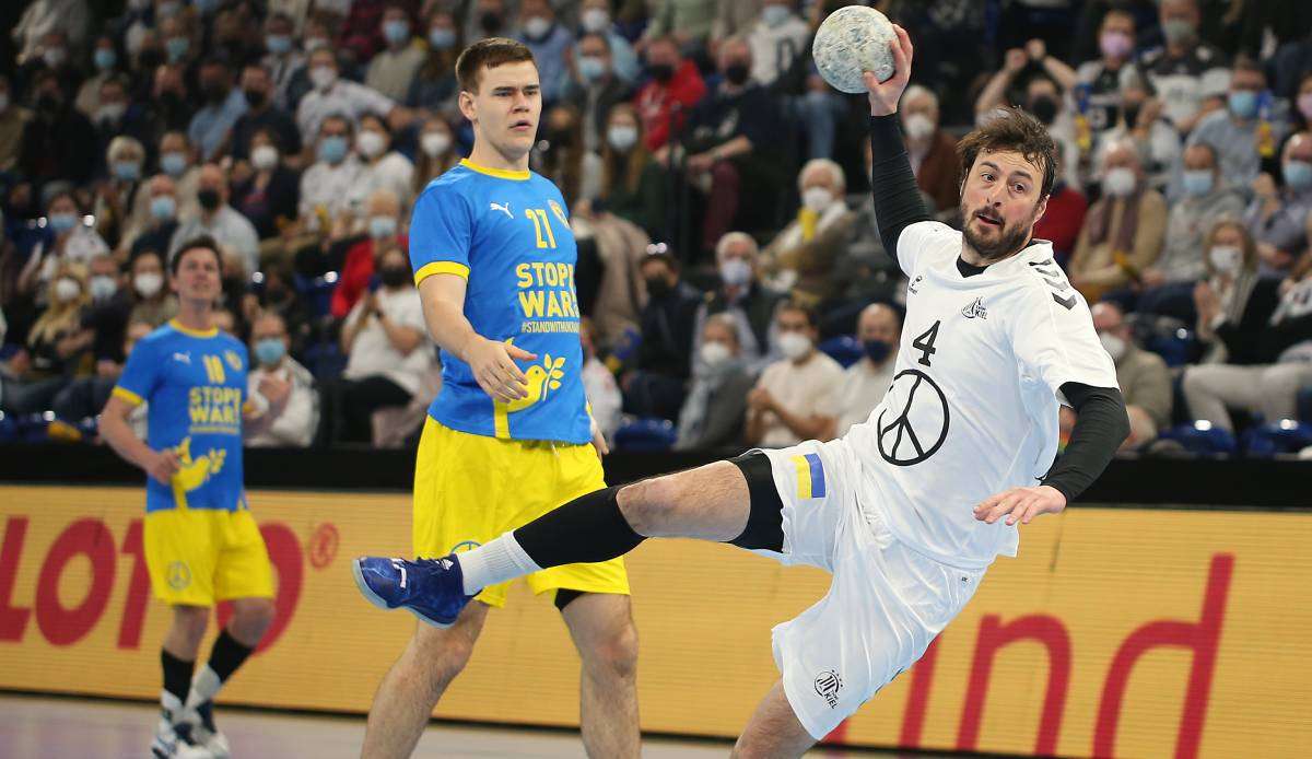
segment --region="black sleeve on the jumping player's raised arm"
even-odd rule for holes
[[[896,264],[901,231],[908,225],[933,218],[916,186],[896,113],[870,117],[870,155],[874,159],[870,164],[870,192],[875,197],[879,239]]]

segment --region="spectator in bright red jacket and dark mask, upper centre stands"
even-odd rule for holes
[[[647,43],[647,71],[652,77],[634,96],[634,108],[643,121],[647,150],[656,152],[672,135],[677,138],[684,133],[684,122],[693,106],[706,95],[706,83],[697,64],[682,56],[673,38],[651,38]]]

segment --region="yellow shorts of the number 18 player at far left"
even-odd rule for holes
[[[171,508],[146,515],[146,566],[168,604],[273,597],[273,567],[249,511]]]

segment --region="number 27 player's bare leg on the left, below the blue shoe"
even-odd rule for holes
[[[474,603],[445,630],[416,622],[415,637],[374,695],[361,756],[390,759],[415,751],[437,700],[470,661],[487,613],[485,604]]]

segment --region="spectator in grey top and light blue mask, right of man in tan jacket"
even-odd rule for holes
[[[1207,143],[1185,150],[1183,198],[1166,214],[1161,256],[1140,273],[1138,297],[1118,301],[1124,310],[1164,314],[1191,323],[1194,284],[1207,274],[1203,242],[1221,219],[1239,219],[1244,201],[1221,184],[1216,152]],[[1109,295],[1111,297],[1111,295]]]

